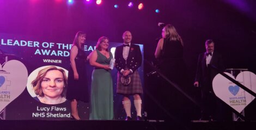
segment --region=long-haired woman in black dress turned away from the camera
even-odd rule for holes
[[[183,41],[181,36],[177,33],[174,26],[167,24],[162,29],[162,38],[159,40],[155,57],[159,61],[157,67],[161,73],[166,76],[169,81],[176,84],[172,86],[165,80],[160,82],[157,91],[161,95],[156,95],[162,106],[176,118],[184,118],[182,116],[182,108],[184,108],[185,96],[181,94],[175,87],[185,90],[186,75],[185,63],[183,59]],[[180,113],[179,113],[180,112]],[[170,120],[169,114],[163,114],[165,120]]]

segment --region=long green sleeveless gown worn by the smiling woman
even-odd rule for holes
[[[109,65],[113,55],[106,58],[97,49],[96,62]],[[111,70],[96,68],[92,73],[90,120],[112,120],[113,119],[113,83]]]

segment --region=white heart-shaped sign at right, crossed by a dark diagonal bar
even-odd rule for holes
[[[224,72],[229,77],[234,78],[230,73]],[[246,88],[256,92],[256,75],[249,71],[243,71],[236,76],[236,81],[246,86]],[[215,95],[222,101],[241,113],[249,103],[254,100],[254,96],[218,74],[212,81],[212,88]]]

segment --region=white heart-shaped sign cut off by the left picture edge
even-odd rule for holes
[[[17,98],[26,88],[28,71],[18,60],[0,64],[0,111]]]

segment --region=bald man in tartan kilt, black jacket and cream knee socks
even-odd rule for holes
[[[126,120],[131,120],[131,101],[134,98],[134,105],[137,112],[137,120],[142,120],[141,109],[143,93],[141,78],[138,67],[142,64],[141,49],[138,45],[131,44],[132,34],[125,31],[123,34],[124,44],[115,48],[115,67],[118,70],[117,93],[123,95],[123,106],[126,113]]]

